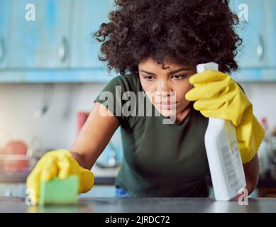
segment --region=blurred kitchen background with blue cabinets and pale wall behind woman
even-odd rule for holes
[[[114,0],[0,0],[0,196],[26,194],[38,159],[70,148],[93,100],[117,75],[99,62],[92,38],[113,9]],[[231,9],[243,38],[241,69],[231,76],[266,130],[251,196],[276,197],[276,0],[234,0]],[[114,196],[122,157],[118,128],[92,168],[95,187],[82,196]]]

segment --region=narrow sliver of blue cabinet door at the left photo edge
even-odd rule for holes
[[[0,1],[0,69],[6,67],[9,54],[9,28],[11,21],[11,1]]]

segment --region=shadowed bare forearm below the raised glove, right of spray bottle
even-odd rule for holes
[[[243,170],[246,180],[246,189],[248,190],[248,195],[253,192],[258,184],[259,180],[259,158],[258,153],[255,154],[252,160],[243,164]]]

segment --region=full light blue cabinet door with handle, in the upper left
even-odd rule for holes
[[[12,3],[9,66],[67,67],[72,0],[13,0]],[[35,21],[30,21],[28,18],[34,15]]]

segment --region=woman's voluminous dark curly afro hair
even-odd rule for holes
[[[162,64],[219,63],[221,72],[238,69],[241,38],[238,16],[228,0],[115,0],[109,23],[94,33],[101,42],[99,60],[108,71],[137,73],[148,57]]]

